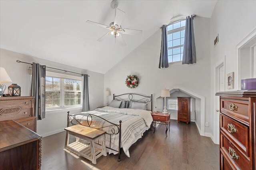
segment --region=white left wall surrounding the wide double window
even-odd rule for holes
[[[28,74],[29,64],[16,63],[16,60],[24,61],[27,63],[40,63],[53,68],[64,69],[72,72],[89,74],[89,102],[90,109],[96,109],[103,105],[104,96],[104,74],[82,70],[68,65],[59,64],[36,57],[0,49],[0,66],[6,69],[12,79],[12,83],[17,83],[21,87],[21,95],[29,96],[30,90],[30,75]],[[8,87],[11,83],[5,83]],[[6,90],[7,93],[7,90]],[[58,111],[47,111],[46,118],[37,121],[37,133],[43,136],[58,133],[66,127],[67,111],[70,113],[78,113],[82,109],[63,109]]]

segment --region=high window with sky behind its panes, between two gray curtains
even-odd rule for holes
[[[167,26],[168,31],[168,61],[182,61],[186,20],[178,21]]]

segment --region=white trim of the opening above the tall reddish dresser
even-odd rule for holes
[[[236,89],[236,90],[241,90],[241,80],[240,80],[240,49],[246,43],[248,43],[250,40],[252,40],[252,38],[254,38],[255,36],[256,36],[256,27],[254,27],[254,29],[252,29],[252,31],[250,31],[250,33],[248,33],[242,39],[242,41],[240,41],[240,43],[238,43],[238,45],[236,45],[236,73],[235,73],[236,79],[234,80],[235,81],[234,89]]]

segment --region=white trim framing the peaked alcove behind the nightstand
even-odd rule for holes
[[[201,136],[205,136],[205,134],[204,134],[204,129],[205,129],[204,128],[204,122],[205,122],[205,97],[201,96],[200,94],[197,94],[195,92],[192,92],[191,90],[188,90],[186,88],[180,87],[180,86],[179,87],[169,88],[170,92],[173,91],[173,90],[176,90],[176,89],[180,89],[180,91],[182,91],[182,92],[188,93],[191,96],[195,96],[196,98],[200,98],[201,99],[201,129],[198,129],[198,131],[199,131]],[[156,104],[156,99],[159,98],[159,97],[161,97],[160,94],[157,94],[154,97],[155,104]]]

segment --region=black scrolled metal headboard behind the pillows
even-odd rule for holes
[[[129,100],[134,101],[134,102],[145,101],[146,103],[150,103],[151,111],[153,112],[153,103],[152,103],[153,102],[153,94],[151,94],[150,96],[146,96],[146,95],[138,94],[138,93],[125,93],[125,94],[120,94],[120,95],[113,94],[113,100],[117,100],[117,99],[125,100],[123,98],[120,98],[120,96],[124,96],[124,95],[128,95]],[[134,96],[142,96],[143,98],[132,100]]]

